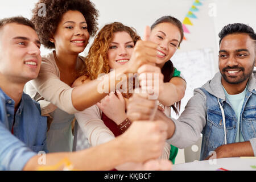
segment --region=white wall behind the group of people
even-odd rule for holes
[[[127,26],[137,29],[139,35],[143,37],[144,27],[150,26],[156,19],[163,15],[172,15],[180,19],[181,22],[188,13],[195,0],[91,0],[96,8],[100,11],[98,19],[99,28],[106,23],[122,22]],[[0,18],[8,16],[23,15],[31,18],[31,9],[37,0],[9,0],[0,1]],[[256,1],[255,0],[201,0],[202,6],[197,6],[198,12],[194,14],[197,19],[192,19],[193,26],[187,25],[190,34],[185,34],[187,40],[181,44],[181,48],[176,52],[176,57],[187,56],[187,59],[176,59],[174,64],[180,69],[181,73],[187,75],[188,89],[184,99],[181,101],[181,111],[183,110],[188,98],[192,96],[193,88],[201,86],[208,77],[212,77],[218,71],[218,32],[228,23],[245,23],[249,24],[256,31]],[[216,8],[216,9],[215,9]],[[92,42],[92,40],[90,40]],[[89,46],[85,49],[84,54],[88,52]],[[208,60],[211,60],[209,70],[197,71],[197,77],[191,77],[189,72],[205,61],[205,51],[208,53]],[[42,54],[48,51],[42,47]],[[193,57],[190,57],[190,56]],[[190,61],[197,61],[192,64]],[[178,61],[177,61],[178,60]],[[176,62],[175,62],[176,61]],[[208,75],[205,76],[204,74]],[[202,74],[202,75],[200,75]],[[204,79],[200,79],[204,78]],[[190,84],[190,85],[189,85]],[[183,163],[183,150],[180,150],[176,163]]]

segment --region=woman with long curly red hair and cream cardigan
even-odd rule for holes
[[[109,73],[110,70],[114,71],[115,69],[123,67],[124,64],[130,61],[135,44],[140,39],[141,38],[133,28],[127,27],[122,23],[114,22],[106,24],[100,32],[98,32],[92,47],[90,47],[89,55],[85,60],[86,68],[88,68],[88,70],[84,72],[85,76],[80,77],[73,85],[80,85],[82,84],[82,81],[90,81],[99,78],[101,73]],[[122,50],[117,51],[117,49]],[[117,52],[120,53],[118,60],[115,60],[117,58]],[[130,86],[130,91],[133,91],[135,88],[134,75],[131,74],[128,80],[130,82],[127,83],[127,87],[125,85],[123,85],[123,87],[121,86],[122,93],[119,90],[116,90],[116,93],[110,93],[110,96],[104,98],[104,100],[112,100],[112,102],[115,100],[112,105],[106,106],[108,107],[108,110],[105,108],[104,111],[101,111],[99,107],[102,108],[102,106],[98,103],[98,107],[93,105],[92,107],[75,114],[80,126],[78,130],[79,135],[77,137],[77,150],[82,150],[86,147],[83,146],[86,139],[88,139],[91,146],[97,146],[118,137],[130,126],[131,123],[127,123],[126,127],[119,129],[116,124],[123,121],[130,122],[125,113],[125,99],[128,99],[133,95],[132,93],[129,93],[129,90],[127,89],[129,88],[129,84],[132,84],[132,86]],[[170,148],[170,144],[166,143],[164,145],[164,150],[160,159],[169,159]],[[117,166],[117,169],[133,170],[138,166],[141,166],[141,164],[126,163]]]

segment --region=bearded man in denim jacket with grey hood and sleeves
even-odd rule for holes
[[[212,151],[217,158],[256,155],[256,34],[253,28],[234,23],[222,28],[219,36],[220,72],[195,89],[179,119],[156,114],[168,124],[168,142],[176,147],[188,147],[203,134],[200,160],[210,158]],[[150,107],[154,102],[145,98],[131,98],[130,119],[150,117],[137,108],[138,103]]]

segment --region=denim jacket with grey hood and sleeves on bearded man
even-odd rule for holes
[[[168,141],[174,146],[188,147],[200,138],[200,133],[203,134],[200,160],[207,158],[209,152],[216,150],[217,147],[235,142],[236,133],[239,132],[236,128],[237,118],[230,102],[226,99],[220,72],[202,88],[195,89],[194,96],[188,101],[180,118],[173,120],[175,133]],[[245,141],[250,141],[256,155],[255,73],[249,78],[241,109],[240,129]]]

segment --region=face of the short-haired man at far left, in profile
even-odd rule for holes
[[[27,82],[38,77],[40,42],[35,30],[9,23],[0,30],[0,75],[10,81]]]

